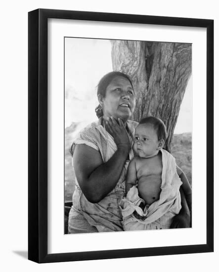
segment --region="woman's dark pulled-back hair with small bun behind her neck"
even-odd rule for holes
[[[130,77],[128,75],[126,75],[126,74],[124,74],[122,72],[110,72],[110,73],[106,74],[105,76],[103,76],[101,78],[101,80],[99,81],[99,83],[97,85],[97,96],[99,94],[101,94],[102,97],[105,97],[106,96],[106,88],[112,82],[112,80],[114,78],[117,78],[117,77],[123,77],[125,79],[128,79],[128,81],[131,84],[131,87],[133,88],[131,79],[130,79]],[[96,112],[96,115],[97,115],[98,118],[100,118],[101,116],[103,116],[103,110],[102,110],[102,107],[100,105],[98,105],[95,108],[95,112]]]

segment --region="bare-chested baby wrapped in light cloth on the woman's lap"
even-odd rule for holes
[[[191,187],[175,158],[163,149],[166,136],[164,123],[155,117],[142,119],[135,130],[135,157],[122,200],[124,230],[170,228],[181,209],[181,184],[191,211]]]

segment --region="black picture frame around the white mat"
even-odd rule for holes
[[[201,27],[207,30],[206,244],[47,253],[47,19]],[[214,21],[131,14],[36,9],[28,14],[28,259],[37,263],[158,256],[214,251]]]

